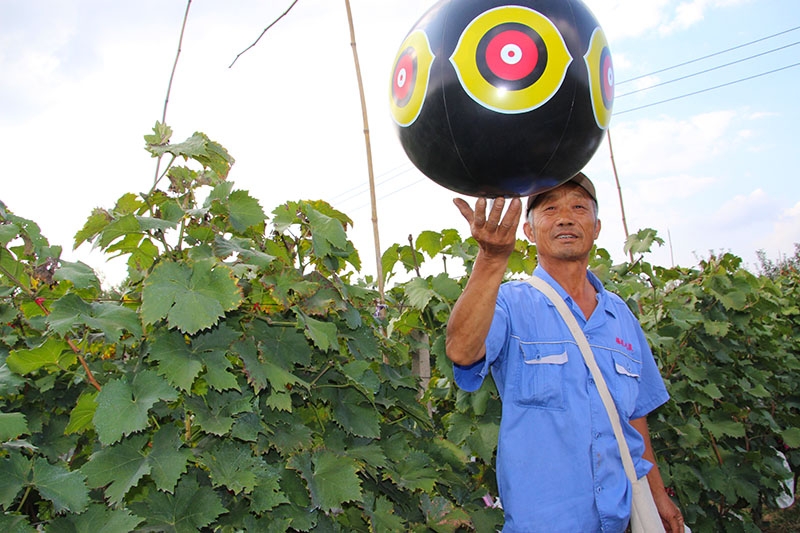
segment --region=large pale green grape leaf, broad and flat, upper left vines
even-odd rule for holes
[[[145,279],[142,319],[166,318],[172,328],[194,334],[215,325],[239,306],[242,293],[231,270],[213,261],[160,263]]]

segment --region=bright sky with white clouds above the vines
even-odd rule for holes
[[[381,251],[468,225],[458,196],[421,174],[389,113],[398,48],[432,0],[351,0],[377,184]],[[345,2],[194,0],[166,122],[225,146],[229,176],[267,213],[322,199],[349,215],[374,274],[363,117]],[[691,267],[731,252],[756,268],[800,242],[797,0],[585,0],[616,80],[610,137],[625,220],[666,241],[648,256]],[[124,277],[75,233],[95,207],[150,189],[143,136],[160,120],[185,0],[0,0],[0,200],[37,222],[64,259]],[[585,172],[598,190],[598,246],[626,259],[611,150]],[[472,202],[472,200],[470,200]],[[519,237],[524,238],[521,228]]]

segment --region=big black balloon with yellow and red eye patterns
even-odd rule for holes
[[[441,0],[400,46],[390,90],[414,165],[488,197],[526,196],[578,173],[613,99],[608,43],[579,0]]]

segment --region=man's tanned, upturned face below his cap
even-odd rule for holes
[[[567,183],[537,198],[533,225],[525,235],[536,244],[542,260],[577,261],[588,258],[600,234],[595,203],[580,185]]]

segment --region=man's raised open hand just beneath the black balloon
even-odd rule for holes
[[[522,214],[522,201],[513,198],[508,210],[503,215],[505,199],[496,198],[486,215],[486,198],[478,198],[475,210],[461,198],[453,200],[458,210],[469,222],[472,237],[478,241],[481,252],[486,259],[507,260],[514,251],[517,242],[517,228]],[[502,219],[501,219],[502,216]]]

